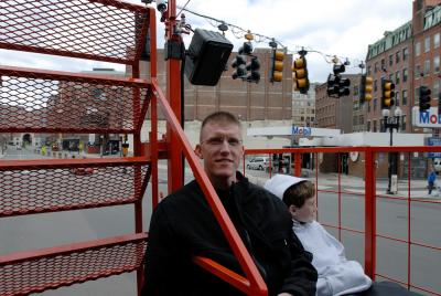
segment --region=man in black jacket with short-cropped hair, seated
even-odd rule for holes
[[[237,172],[244,154],[237,118],[225,112],[206,117],[195,152],[267,283],[268,295],[314,295],[316,271],[292,233],[284,204]],[[194,256],[244,274],[196,181],[163,199],[152,214],[142,295],[244,295],[195,265]]]

